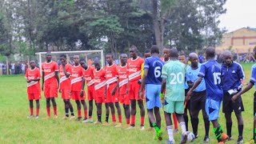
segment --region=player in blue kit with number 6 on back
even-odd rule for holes
[[[160,102],[160,90],[162,84],[161,71],[164,62],[158,57],[158,46],[151,47],[151,57],[146,58],[144,62],[144,74],[142,77],[142,86],[139,90],[139,95],[142,98],[142,90],[146,87],[146,108],[150,122],[157,132],[155,139],[162,140],[161,130],[161,116],[159,108],[162,103]],[[154,118],[155,117],[155,118]]]

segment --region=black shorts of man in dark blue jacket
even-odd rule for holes
[[[234,110],[234,113],[238,114],[244,111],[244,107],[242,104],[242,98],[239,97],[235,102],[231,101],[231,98],[234,96],[234,94],[225,93],[223,97],[222,102],[222,112],[223,113],[232,113]],[[255,101],[254,101],[255,102]]]

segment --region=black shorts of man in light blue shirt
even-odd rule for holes
[[[198,113],[199,110],[202,110],[204,117],[207,117],[206,114],[206,90],[200,92],[193,92],[190,98],[190,110],[191,114]]]

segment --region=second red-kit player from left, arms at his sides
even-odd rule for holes
[[[57,103],[55,98],[58,98],[58,64],[51,60],[51,53],[46,53],[46,62],[42,63],[42,90],[46,98],[46,110],[48,117],[50,117],[50,101],[53,103],[54,115],[57,116]]]

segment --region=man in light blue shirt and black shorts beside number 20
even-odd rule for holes
[[[192,87],[198,79],[201,64],[198,62],[198,54],[190,53],[189,58],[191,65],[186,66],[186,83]],[[198,114],[202,110],[202,117],[205,123],[205,138],[203,142],[209,142],[210,122],[206,114],[206,82],[204,78],[202,78],[202,82],[200,82],[198,87],[193,90],[191,98],[186,96],[186,99],[190,99],[191,123],[195,138],[198,138]]]

